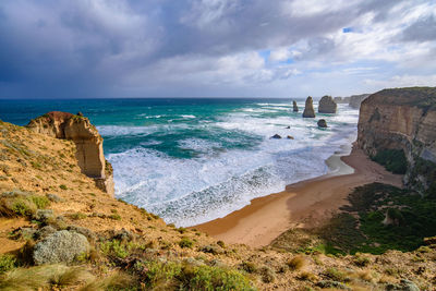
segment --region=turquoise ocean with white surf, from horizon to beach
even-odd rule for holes
[[[296,101],[298,113],[292,99],[0,100],[0,119],[83,112],[105,138],[116,196],[187,227],[334,170],[325,160],[355,141],[359,111],[338,105],[337,114],[303,119]]]

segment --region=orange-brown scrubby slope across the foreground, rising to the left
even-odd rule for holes
[[[0,121],[0,290],[435,288],[432,247],[332,255],[308,232],[294,248],[226,245],[109,196],[76,151]]]

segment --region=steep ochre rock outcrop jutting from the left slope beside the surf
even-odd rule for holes
[[[51,111],[31,120],[26,126],[36,133],[73,141],[82,172],[93,178],[99,189],[113,195],[112,166],[105,159],[101,135],[87,118]]]

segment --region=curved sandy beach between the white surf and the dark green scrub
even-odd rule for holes
[[[350,155],[334,155],[326,162],[331,173],[288,185],[283,192],[255,198],[240,210],[193,228],[226,243],[261,247],[289,228],[319,226],[347,204],[356,186],[372,182],[401,186],[401,175],[387,172],[356,146]]]

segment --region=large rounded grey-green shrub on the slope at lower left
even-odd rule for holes
[[[36,265],[69,264],[89,250],[89,243],[83,234],[61,230],[38,242],[34,247],[33,258]]]

